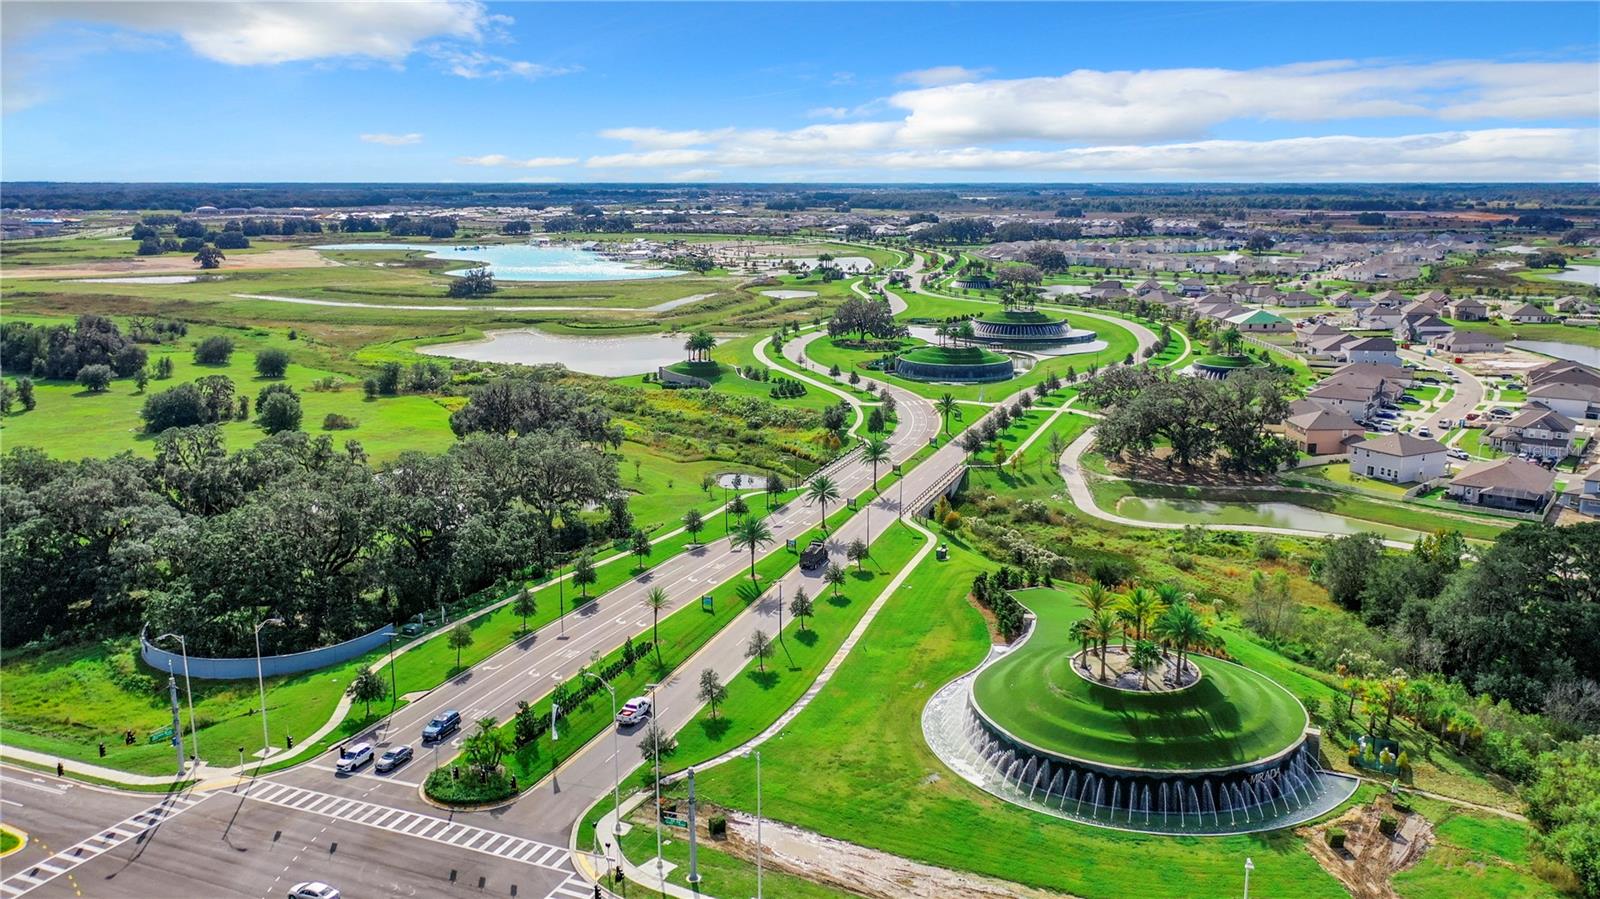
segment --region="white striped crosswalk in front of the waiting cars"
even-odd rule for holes
[[[419,840],[432,840],[458,849],[470,849],[474,853],[483,853],[485,856],[510,859],[514,862],[523,862],[534,867],[571,870],[566,864],[568,851],[565,846],[541,843],[538,840],[525,840],[522,837],[512,837],[510,833],[499,833],[496,830],[485,830],[483,827],[472,827],[432,814],[418,814],[414,811],[352,800],[349,797],[336,797],[333,793],[307,790],[304,787],[290,787],[272,781],[254,784],[245,792],[245,798],[307,814],[349,821],[365,827],[376,827],[392,833],[403,833]]]

